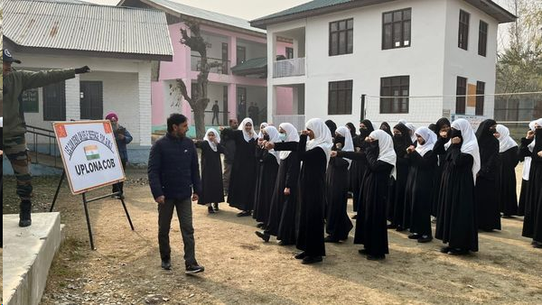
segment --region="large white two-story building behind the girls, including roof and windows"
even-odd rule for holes
[[[267,31],[268,119],[282,121],[284,87],[299,121],[491,117],[497,27],[515,19],[491,0],[335,0],[254,20]],[[294,59],[273,60],[277,37],[292,39]]]

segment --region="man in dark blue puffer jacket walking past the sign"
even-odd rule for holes
[[[192,226],[192,201],[198,201],[201,192],[200,166],[196,147],[186,137],[187,131],[186,116],[172,114],[167,118],[167,134],[151,148],[148,176],[154,201],[158,203],[158,245],[162,268],[170,270],[172,266],[169,231],[173,208],[176,208],[184,244],[185,273],[191,274],[201,273],[204,268],[196,262]]]

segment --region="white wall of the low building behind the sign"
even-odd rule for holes
[[[116,112],[134,141],[130,146],[151,143],[151,96],[149,62],[142,60],[97,59],[76,56],[48,56],[17,54],[23,60],[20,69],[69,69],[88,65],[91,73],[81,74],[66,81],[66,119],[79,119],[79,80],[98,80],[103,83],[103,116]],[[42,88],[39,89],[39,113],[27,113],[28,125],[52,129],[51,122],[43,121]],[[147,122],[148,121],[148,122]],[[29,135],[30,136],[30,135]],[[40,138],[41,143],[48,143]]]

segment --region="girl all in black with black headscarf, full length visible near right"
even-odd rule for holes
[[[499,212],[499,140],[495,138],[495,120],[485,120],[476,131],[480,147],[481,169],[476,178],[474,198],[476,199],[478,228],[484,231],[500,230]]]

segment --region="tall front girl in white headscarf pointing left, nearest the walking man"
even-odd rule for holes
[[[325,200],[325,171],[332,152],[332,134],[320,118],[305,124],[307,130],[297,143],[269,143],[266,148],[276,151],[297,151],[303,162],[299,175],[299,234],[295,246],[303,251],[296,254],[302,263],[322,262],[323,211]],[[310,141],[307,142],[307,136]]]

